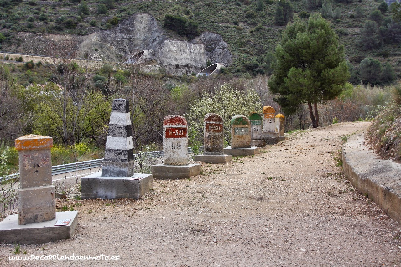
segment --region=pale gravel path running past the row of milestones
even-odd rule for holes
[[[399,224],[336,166],[341,137],[369,124],[298,131],[192,179],[154,180],[140,200],[58,199],[79,211],[74,237],[22,251],[119,261],[9,261],[14,246],[2,246],[0,265],[399,266]]]

